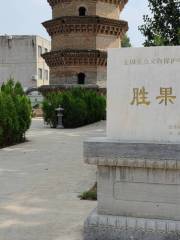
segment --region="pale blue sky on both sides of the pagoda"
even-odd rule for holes
[[[47,0],[12,0],[1,2],[0,35],[40,35],[49,39],[42,22],[51,19],[51,7]],[[138,31],[143,14],[148,13],[148,0],[129,0],[121,13],[121,19],[128,21],[133,47],[143,43],[143,36]]]

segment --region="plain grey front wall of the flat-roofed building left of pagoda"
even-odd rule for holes
[[[36,36],[0,36],[0,85],[9,78],[21,82],[24,88],[39,85],[38,61],[42,64],[44,60],[37,59],[36,43]]]

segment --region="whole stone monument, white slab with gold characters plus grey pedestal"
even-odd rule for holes
[[[98,166],[85,240],[180,239],[180,47],[110,49],[107,137],[84,143]]]

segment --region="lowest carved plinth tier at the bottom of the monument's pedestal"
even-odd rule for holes
[[[84,240],[180,240],[180,221],[100,215],[84,224]]]

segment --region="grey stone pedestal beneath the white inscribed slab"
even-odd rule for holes
[[[98,166],[98,207],[85,221],[85,240],[180,239],[180,144],[84,143]]]

